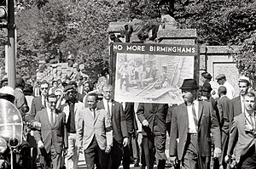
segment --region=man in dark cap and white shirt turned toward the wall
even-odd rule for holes
[[[223,85],[227,89],[227,97],[233,99],[235,97],[235,88],[227,81],[227,78],[224,74],[219,74],[215,78],[219,85]]]

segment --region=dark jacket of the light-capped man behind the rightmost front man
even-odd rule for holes
[[[236,115],[241,114],[241,96],[237,96],[234,99],[231,99],[230,101],[230,128],[232,121]]]

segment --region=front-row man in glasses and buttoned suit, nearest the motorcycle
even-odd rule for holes
[[[61,110],[56,110],[55,94],[47,97],[46,109],[38,111],[35,121],[41,123],[41,130],[34,133],[38,148],[44,157],[44,168],[61,168],[61,153],[67,152],[66,116]]]

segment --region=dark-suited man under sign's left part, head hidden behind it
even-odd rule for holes
[[[131,160],[135,166],[139,166],[139,147],[137,143],[137,121],[134,111],[134,103],[123,103],[125,121],[129,133],[129,144],[124,147],[123,167],[129,169]]]

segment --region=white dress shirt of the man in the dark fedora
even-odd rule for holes
[[[199,105],[199,102],[198,102],[198,100],[195,100],[192,104],[194,104],[195,115],[198,119],[198,105]],[[193,111],[192,111],[192,104],[187,105],[188,116],[189,116],[189,130],[188,130],[188,132],[189,133],[197,133],[197,130],[195,128],[194,115],[193,115]]]

